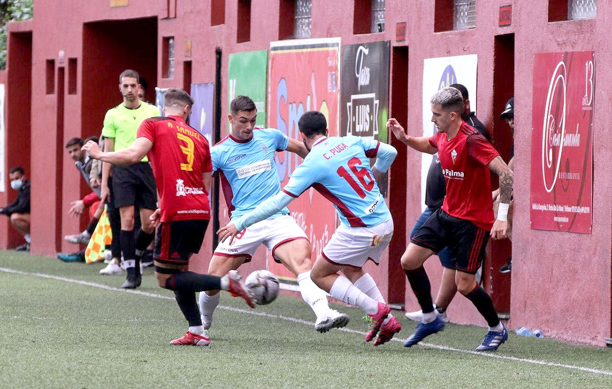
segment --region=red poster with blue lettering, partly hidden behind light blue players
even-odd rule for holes
[[[271,42],[268,65],[268,126],[299,139],[297,121],[304,112],[317,110],[327,118],[329,135],[338,134],[338,89],[340,38]],[[277,153],[281,186],[302,162],[287,151]],[[313,260],[335,231],[334,208],[310,188],[289,205],[291,215],[312,244]],[[268,266],[274,274],[295,278],[268,253]]]

